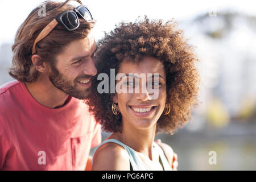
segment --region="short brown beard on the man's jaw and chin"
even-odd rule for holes
[[[86,88],[83,90],[78,89],[77,80],[83,79],[83,78],[89,78],[91,76],[78,76],[73,81],[69,81],[67,77],[65,77],[62,73],[57,71],[54,65],[51,65],[51,75],[49,75],[49,80],[52,82],[52,84],[62,90],[63,92],[67,93],[69,96],[78,98],[80,100],[84,100],[88,98],[90,93],[90,88]]]

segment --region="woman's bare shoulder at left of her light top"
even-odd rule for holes
[[[117,143],[104,143],[93,156],[92,170],[130,171],[129,155],[125,148]]]

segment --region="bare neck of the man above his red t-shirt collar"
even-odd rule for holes
[[[32,83],[25,82],[25,85],[36,101],[52,109],[63,106],[68,99],[68,94],[57,89],[48,77],[40,77]]]

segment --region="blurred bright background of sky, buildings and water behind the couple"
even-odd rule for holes
[[[41,2],[0,0],[0,85],[13,80],[8,69],[15,32]],[[96,19],[96,40],[121,20],[148,15],[164,21],[174,18],[195,46],[202,82],[200,104],[183,129],[156,136],[177,153],[179,170],[256,170],[255,1],[82,2]],[[103,140],[108,136],[102,132]],[[216,164],[209,162],[210,151],[216,152]]]

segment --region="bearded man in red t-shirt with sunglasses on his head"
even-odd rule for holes
[[[84,170],[91,162],[90,148],[101,143],[100,125],[82,101],[97,73],[93,22],[90,15],[79,15],[73,31],[61,23],[43,30],[57,15],[74,9],[67,2],[44,5],[46,16],[36,8],[19,27],[10,71],[16,81],[0,89],[1,170]],[[63,16],[73,17],[76,26],[75,11]]]

